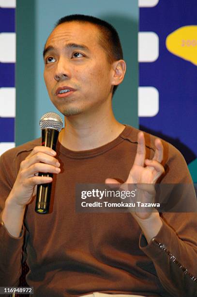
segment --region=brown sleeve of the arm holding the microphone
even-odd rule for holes
[[[15,158],[12,152],[11,150],[0,156],[0,286],[17,286],[21,275],[24,242],[24,226],[20,237],[14,237],[1,219],[5,200],[15,181]]]

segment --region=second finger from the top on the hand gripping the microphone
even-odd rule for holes
[[[44,152],[38,152],[34,155],[32,155],[31,157],[29,157],[28,159],[25,159],[21,162],[20,167],[22,169],[28,168],[31,165],[38,163],[38,162],[42,162],[45,164],[50,164],[50,165],[54,165],[57,167],[60,167],[60,163],[58,161],[58,159],[52,157],[51,155],[48,155]]]

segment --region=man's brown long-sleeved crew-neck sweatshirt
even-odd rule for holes
[[[71,151],[57,145],[61,173],[53,182],[53,212],[37,214],[27,207],[19,238],[0,227],[0,286],[20,277],[22,247],[30,271],[27,283],[35,297],[76,297],[103,292],[144,296],[197,296],[197,216],[161,214],[163,226],[147,244],[130,213],[76,213],[75,185],[126,181],[133,165],[139,131],[126,126],[118,138],[95,149]],[[154,139],[145,134],[147,158]],[[12,189],[22,160],[37,139],[0,157],[0,210]],[[181,153],[163,141],[163,183],[191,183]],[[185,199],[187,199],[186,193]],[[15,219],[15,218],[13,218]],[[25,235],[24,235],[25,234]]]

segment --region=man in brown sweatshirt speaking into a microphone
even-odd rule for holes
[[[76,182],[192,182],[175,148],[115,119],[122,58],[114,28],[91,16],[66,16],[49,35],[44,78],[66,128],[57,153],[39,139],[1,156],[1,286],[17,284],[25,239],[36,297],[196,296],[194,214],[75,212]],[[52,179],[38,172],[57,174],[46,215],[34,212],[34,196]]]

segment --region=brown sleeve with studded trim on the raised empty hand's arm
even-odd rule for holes
[[[182,154],[172,146],[169,149],[167,174],[162,182],[191,183]],[[182,195],[187,199],[186,191]],[[152,259],[159,281],[170,296],[197,297],[197,213],[163,213],[161,219],[158,234],[149,244],[141,235],[139,247]]]

